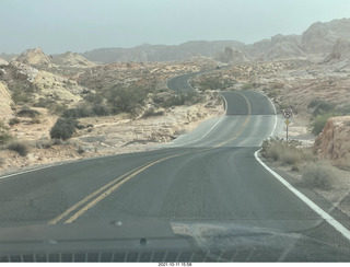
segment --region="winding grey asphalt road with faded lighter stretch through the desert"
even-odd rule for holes
[[[187,80],[168,85],[178,90]],[[1,178],[0,227],[230,222],[282,233],[316,229],[313,237],[346,243],[256,161],[255,151],[276,127],[271,102],[253,91],[222,95],[225,116],[166,148]]]

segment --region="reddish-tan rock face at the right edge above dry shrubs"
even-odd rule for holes
[[[327,120],[322,134],[316,138],[314,152],[338,165],[350,169],[350,116],[332,117]]]

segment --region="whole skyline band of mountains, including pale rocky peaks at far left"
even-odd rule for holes
[[[180,45],[143,44],[132,48],[97,48],[85,53],[46,56],[40,48],[15,55],[0,54],[1,62],[19,60],[34,65],[93,66],[93,62],[161,62],[189,60],[198,55],[222,62],[275,60],[324,56],[328,59],[350,59],[350,19],[313,23],[301,35],[278,34],[269,39],[246,45],[237,40],[190,40]],[[230,48],[230,49],[226,49]]]

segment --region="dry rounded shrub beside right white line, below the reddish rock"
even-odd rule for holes
[[[302,179],[307,186],[329,190],[334,187],[339,171],[324,161],[307,164],[302,170]]]

